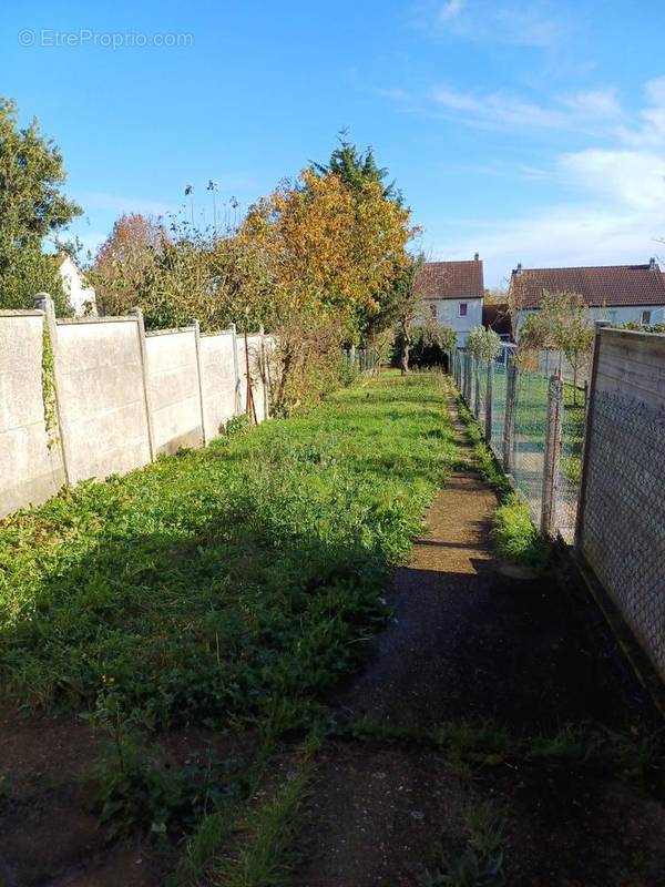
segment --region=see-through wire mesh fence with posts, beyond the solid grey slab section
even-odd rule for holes
[[[479,360],[463,349],[451,354],[450,365],[458,390],[536,524],[559,531],[572,543],[584,438],[583,392],[562,380],[552,388],[551,377],[543,373],[518,369],[513,361]],[[555,438],[551,451],[550,426]],[[550,501],[543,527],[543,509]]]

